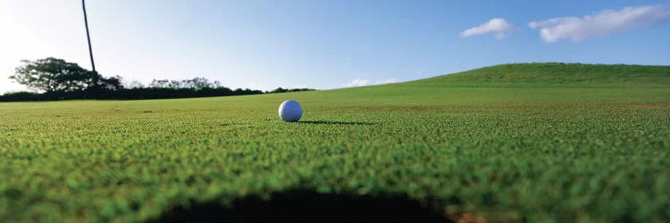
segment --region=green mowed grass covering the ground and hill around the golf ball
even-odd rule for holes
[[[453,79],[461,73],[274,95],[0,103],[0,219],[142,221],[306,189],[407,194],[487,219],[670,220],[670,67],[557,82],[530,73],[582,65],[516,66],[531,69],[515,72],[523,82]],[[302,122],[279,120],[287,99],[302,103]]]

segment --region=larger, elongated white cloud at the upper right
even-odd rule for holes
[[[667,5],[625,7],[619,11],[605,10],[578,17],[559,17],[546,21],[532,21],[528,26],[540,29],[544,42],[570,39],[579,42],[587,38],[605,37],[624,29],[636,29],[670,18]]]

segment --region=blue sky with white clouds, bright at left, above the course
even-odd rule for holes
[[[670,65],[669,1],[88,0],[96,69],[148,83],[320,89],[509,62]],[[493,21],[491,21],[493,20]],[[470,29],[470,31],[466,31]],[[0,94],[21,59],[90,68],[80,1],[0,0]]]

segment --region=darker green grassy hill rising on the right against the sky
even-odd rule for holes
[[[665,87],[670,84],[670,66],[515,63],[425,78],[407,84],[467,87]]]

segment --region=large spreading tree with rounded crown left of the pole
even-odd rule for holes
[[[9,78],[35,90],[68,92],[86,89],[92,83],[90,71],[77,63],[53,57],[21,62],[23,65]]]

